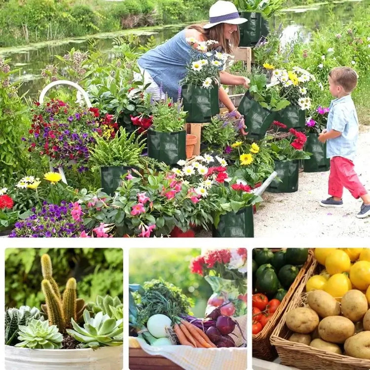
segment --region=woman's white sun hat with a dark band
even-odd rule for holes
[[[210,7],[209,23],[203,28],[211,28],[220,23],[241,24],[247,21],[239,17],[238,9],[231,1],[219,0]]]

